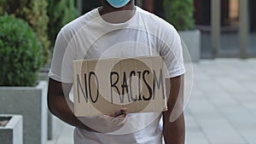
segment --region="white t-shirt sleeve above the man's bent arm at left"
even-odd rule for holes
[[[55,49],[48,74],[49,78],[67,84],[73,83],[73,60],[76,57],[71,39],[67,32],[61,29],[55,41]]]

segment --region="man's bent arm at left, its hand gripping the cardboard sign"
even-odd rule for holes
[[[113,130],[118,130],[125,124],[125,121],[122,120],[125,120],[124,113],[127,111],[127,109],[123,107],[119,111],[108,113],[108,116],[105,115],[98,116],[96,118],[84,118],[86,120],[84,123],[90,124],[90,126],[99,125],[99,127],[101,127],[101,129],[92,130],[73,114],[73,102],[70,101],[68,97],[71,87],[72,84],[63,84],[49,78],[48,107],[49,111],[52,112],[56,117],[79,129],[95,132],[112,132]],[[115,122],[113,118],[118,118],[119,121]]]

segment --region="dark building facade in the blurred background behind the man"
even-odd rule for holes
[[[77,3],[83,14],[101,5],[100,0]],[[165,18],[163,0],[136,3]],[[195,27],[201,31],[201,58],[256,57],[255,0],[194,0],[194,7]]]

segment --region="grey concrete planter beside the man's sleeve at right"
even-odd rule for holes
[[[201,58],[201,32],[199,30],[193,30],[180,31],[178,33],[183,40],[183,48],[185,44],[189,50],[191,60],[198,62]],[[188,60],[187,55],[184,56],[184,60]]]

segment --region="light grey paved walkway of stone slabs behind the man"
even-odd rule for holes
[[[256,143],[256,59],[201,60],[185,110],[186,144]],[[73,144],[73,127],[48,144]]]

